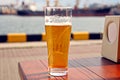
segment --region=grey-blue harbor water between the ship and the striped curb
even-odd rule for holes
[[[103,32],[105,17],[73,17],[72,32]],[[45,32],[44,17],[0,16],[0,35],[8,33],[40,34]]]

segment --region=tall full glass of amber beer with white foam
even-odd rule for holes
[[[71,19],[70,7],[46,7],[45,9],[48,71],[52,76],[67,75]]]

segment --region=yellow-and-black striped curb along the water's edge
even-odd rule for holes
[[[97,40],[102,39],[103,33],[90,32],[73,32],[71,40]],[[31,41],[46,41],[45,33],[41,34],[26,34],[26,33],[9,33],[0,35],[0,42],[31,42]]]

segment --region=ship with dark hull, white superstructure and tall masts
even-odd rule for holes
[[[47,0],[49,1],[49,0]],[[58,0],[55,0],[55,7],[58,6]],[[113,6],[102,6],[98,8],[78,8],[79,0],[76,0],[76,5],[72,9],[72,15],[74,17],[78,16],[105,16],[105,15],[111,15],[110,11],[113,8]],[[49,2],[46,4],[49,6]],[[37,11],[36,5],[25,5],[24,2],[22,2],[22,9],[17,10],[17,14],[20,16],[44,16],[44,11]]]

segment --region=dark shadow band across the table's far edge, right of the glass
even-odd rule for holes
[[[75,58],[69,60],[69,67],[92,67],[92,66],[107,66],[107,65],[119,65],[103,57],[92,58]]]

